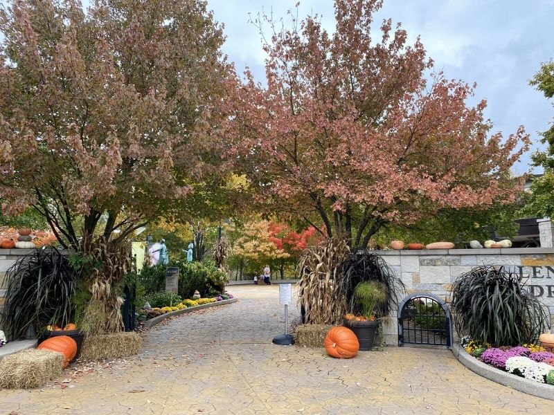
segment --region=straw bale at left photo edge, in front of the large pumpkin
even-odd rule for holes
[[[62,374],[64,355],[27,349],[0,360],[0,389],[32,389]]]

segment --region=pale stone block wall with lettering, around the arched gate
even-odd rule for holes
[[[476,266],[504,266],[520,275],[554,315],[554,248],[376,250],[408,293],[432,293],[450,301],[452,282]],[[397,344],[397,311],[385,324],[387,344]],[[553,320],[554,323],[554,320]]]

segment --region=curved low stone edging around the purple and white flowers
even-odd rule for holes
[[[508,374],[507,372],[501,371],[496,367],[487,365],[486,363],[481,362],[481,360],[477,360],[471,356],[470,353],[467,353],[467,351],[465,351],[458,343],[454,344],[452,347],[452,353],[454,353],[454,356],[458,358],[458,361],[462,365],[479,376],[483,376],[483,378],[497,382],[500,385],[511,387],[512,389],[524,392],[525,394],[537,396],[537,398],[554,400],[554,387],[551,385],[546,385],[546,383],[539,383],[535,382],[535,380],[529,380],[516,375]]]

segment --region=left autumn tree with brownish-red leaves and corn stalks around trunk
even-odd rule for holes
[[[227,64],[199,0],[0,9],[0,198],[89,257],[91,332],[121,328],[125,239],[217,174]],[[114,232],[118,231],[118,232]]]

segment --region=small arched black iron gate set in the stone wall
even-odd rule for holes
[[[452,320],[448,306],[433,294],[404,298],[398,307],[398,345],[452,346]]]

